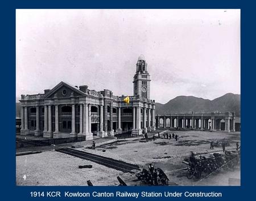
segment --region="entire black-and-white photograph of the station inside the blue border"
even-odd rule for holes
[[[240,186],[239,9],[17,9],[16,186]]]

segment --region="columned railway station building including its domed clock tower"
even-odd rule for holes
[[[21,135],[65,138],[84,135],[112,136],[122,132],[141,135],[155,130],[155,100],[150,100],[150,74],[146,59],[138,58],[134,94],[114,96],[109,89],[94,91],[88,85],[60,82],[36,95],[21,95]]]

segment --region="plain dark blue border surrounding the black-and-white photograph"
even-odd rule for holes
[[[252,2],[252,1],[251,1]],[[253,92],[254,71],[252,63],[255,43],[255,22],[253,20],[254,5],[237,0],[177,0],[177,1],[82,1],[82,0],[18,0],[5,1],[1,3],[2,14],[2,115],[1,115],[1,173],[2,187],[1,200],[37,200],[44,198],[31,198],[31,191],[177,191],[177,192],[221,192],[220,200],[241,200],[253,195],[255,168],[254,158],[250,159],[250,152],[254,152],[255,134],[250,129],[255,125],[253,115],[255,112]],[[16,8],[240,8],[241,9],[241,116],[242,116],[242,167],[240,187],[217,187],[217,186],[177,186],[177,187],[85,187],[85,186],[16,186],[15,167],[15,9]],[[254,90],[253,90],[254,89]],[[250,97],[249,97],[250,95]],[[249,161],[249,159],[251,161]],[[251,181],[251,182],[250,182]],[[86,185],[86,183],[85,183]],[[64,198],[55,198],[64,199]],[[97,199],[97,198],[69,198],[75,199]],[[98,198],[100,199],[100,198]],[[103,198],[104,199],[104,198]],[[112,198],[118,199],[118,198]],[[123,198],[131,199],[131,198]],[[155,198],[147,198],[149,200]],[[174,199],[174,198],[161,198]],[[214,198],[179,198],[179,199],[214,199]],[[250,199],[250,198],[249,198]]]

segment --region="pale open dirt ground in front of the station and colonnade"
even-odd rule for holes
[[[163,139],[163,135],[155,141],[142,138],[118,139],[108,144],[97,144],[96,149],[85,147],[77,148],[82,151],[95,153],[113,159],[137,164],[146,168],[150,162],[156,168],[162,168],[170,178],[170,182],[177,185],[199,186],[228,186],[240,185],[240,169],[214,173],[200,181],[193,181],[185,176],[186,168],[182,163],[188,157],[190,151],[210,156],[213,152],[221,152],[222,147],[210,149],[210,142],[226,140],[230,146],[226,149],[236,148],[236,142],[240,142],[240,132],[207,132],[207,131],[166,131],[168,134],[177,134],[178,140]],[[152,134],[151,134],[152,135]],[[155,134],[157,136],[157,134]],[[106,143],[106,142],[105,142]],[[103,152],[105,150],[105,152]],[[93,168],[79,169],[79,165],[93,165]],[[135,173],[139,172],[137,170]],[[47,151],[32,155],[16,156],[16,185],[84,185],[90,179],[93,185],[112,186],[118,185],[117,176],[121,177],[127,185],[142,185],[134,182],[135,174],[123,173],[115,169],[107,168],[91,161],[79,159],[64,153]],[[234,182],[235,181],[235,182]]]

